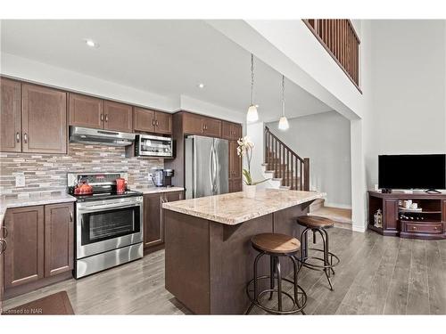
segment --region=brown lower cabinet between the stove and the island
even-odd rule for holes
[[[144,195],[144,247],[160,246],[164,243],[162,203],[183,200],[184,191],[150,193]]]

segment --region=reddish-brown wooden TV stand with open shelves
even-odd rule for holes
[[[401,209],[400,200],[412,200],[423,210]],[[383,213],[383,228],[374,226],[378,208]],[[446,194],[368,191],[368,229],[401,238],[446,239]]]

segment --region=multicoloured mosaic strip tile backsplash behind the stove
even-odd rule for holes
[[[68,155],[0,152],[0,194],[29,191],[64,191],[70,172],[127,172],[133,188],[153,186],[148,173],[164,167],[162,159],[126,158],[125,149],[70,143]],[[25,186],[15,186],[15,176],[25,175]]]

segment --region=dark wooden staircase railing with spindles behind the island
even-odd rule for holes
[[[302,159],[265,126],[264,157],[267,170],[292,190],[310,191],[310,159]]]

